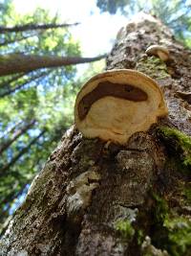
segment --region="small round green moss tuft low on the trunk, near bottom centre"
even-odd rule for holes
[[[127,241],[130,241],[135,234],[135,229],[128,220],[117,221],[115,223],[115,228],[120,236]]]

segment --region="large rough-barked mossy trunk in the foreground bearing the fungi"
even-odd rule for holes
[[[167,46],[171,59],[145,56],[151,44]],[[191,255],[191,106],[175,98],[191,86],[191,52],[158,19],[139,14],[117,35],[107,59],[115,68],[158,81],[169,116],[124,147],[106,149],[70,128],[16,211],[1,256]]]

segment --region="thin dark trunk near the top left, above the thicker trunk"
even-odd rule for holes
[[[17,32],[26,32],[26,31],[34,31],[34,30],[49,30],[49,29],[58,29],[58,28],[68,28],[72,26],[76,26],[79,23],[73,24],[25,24],[21,26],[14,27],[2,27],[0,26],[0,34],[4,33],[17,33]]]

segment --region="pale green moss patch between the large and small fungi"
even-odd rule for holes
[[[161,80],[170,77],[166,69],[166,64],[154,56],[141,58],[138,61],[137,69],[154,79]]]

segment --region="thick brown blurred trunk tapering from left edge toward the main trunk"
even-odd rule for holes
[[[60,67],[88,63],[105,57],[105,55],[93,58],[82,58],[10,54],[6,56],[0,56],[0,76],[6,76],[20,72],[27,73],[32,70],[45,67]]]

